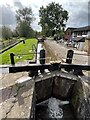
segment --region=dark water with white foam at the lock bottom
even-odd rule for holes
[[[36,120],[76,120],[70,109],[69,101],[61,101],[56,98],[36,105]]]

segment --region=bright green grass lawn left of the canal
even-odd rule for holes
[[[27,59],[33,59],[33,54],[29,54],[30,50],[32,49],[32,45],[36,44],[36,39],[27,39],[25,40],[25,44],[20,43],[15,47],[7,50],[6,52],[0,55],[0,64],[10,64],[10,53],[14,53],[15,56],[15,63],[22,62]],[[19,54],[28,54],[28,55],[19,55]]]

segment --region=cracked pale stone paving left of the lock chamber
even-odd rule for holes
[[[19,82],[20,79],[18,79]],[[24,82],[15,83],[12,86],[3,88],[3,94],[0,103],[1,119],[2,118],[25,118],[29,119],[32,108],[34,81],[26,80]],[[1,97],[1,96],[0,96]]]

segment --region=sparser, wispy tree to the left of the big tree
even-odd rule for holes
[[[16,11],[17,31],[20,37],[32,36],[31,23],[33,21],[33,15],[31,8],[23,8]]]

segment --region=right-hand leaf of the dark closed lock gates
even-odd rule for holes
[[[72,96],[73,86],[76,81],[63,77],[55,77],[53,96],[63,100],[69,100]]]

